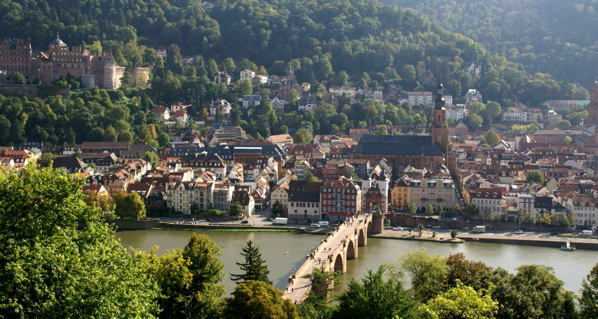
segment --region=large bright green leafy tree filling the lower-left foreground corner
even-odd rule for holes
[[[0,309],[7,318],[154,318],[144,254],[125,251],[84,181],[28,165],[0,171]],[[78,226],[83,226],[79,228]]]

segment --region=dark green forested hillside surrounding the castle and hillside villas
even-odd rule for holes
[[[289,65],[300,83],[312,84],[313,94],[319,84],[381,89],[395,84],[404,93],[435,91],[435,81],[442,76],[444,93],[455,101],[462,101],[468,89],[478,89],[484,103],[492,106],[472,109],[479,111],[472,113],[473,128],[500,120],[501,107],[546,108],[545,100],[571,92],[587,99],[583,88],[556,81],[548,73],[524,72],[411,9],[373,0],[221,0],[208,9],[199,3],[0,0],[0,36],[31,37],[34,48],[44,49],[60,32],[69,45],[113,50],[119,65],[152,66],[148,89],[123,84],[117,92],[75,92],[62,101],[0,98],[0,122],[10,124],[0,139],[17,145],[27,139],[164,145],[166,139],[157,139],[161,129],[151,112],[154,105],[185,101],[192,105],[188,110],[194,119],[206,119],[210,101],[225,98],[236,104],[240,96],[257,93],[249,82],[218,86],[211,81],[215,72],[226,70],[238,78],[239,69],[251,68],[282,75]],[[159,45],[169,46],[164,61],[154,50]],[[182,56],[196,59],[183,70]],[[480,74],[469,72],[471,63],[481,66]],[[341,97],[337,108],[324,104],[309,112],[297,112],[296,102],[291,101],[292,108],[283,116],[264,103],[251,117],[234,110],[231,120],[258,138],[285,133],[286,127],[306,126],[310,133],[321,134],[373,123],[431,120],[431,110],[412,114],[411,107],[380,101],[352,103]],[[576,118],[584,116],[587,113]]]

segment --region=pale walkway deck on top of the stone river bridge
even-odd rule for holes
[[[286,286],[284,297],[291,299],[291,302],[300,303],[307,297],[307,293],[312,288],[312,281],[309,278],[301,278],[304,275],[311,274],[313,269],[321,268],[331,271],[334,268],[335,256],[334,254],[339,247],[343,245],[343,241],[347,236],[353,235],[355,230],[360,227],[364,229],[364,236],[367,236],[367,222],[371,220],[370,214],[359,214],[353,217],[347,218],[344,223],[338,226],[337,230],[334,230],[326,241],[322,243],[312,252],[313,259],[307,257],[306,261],[301,265],[297,272],[295,272],[295,278],[289,279],[289,284]],[[330,257],[332,260],[330,261]],[[332,263],[332,264],[331,264]]]

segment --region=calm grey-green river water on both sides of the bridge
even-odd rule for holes
[[[193,232],[185,230],[132,230],[116,233],[124,247],[148,251],[152,246],[160,247],[158,254],[166,250],[182,248]],[[270,280],[274,286],[283,289],[286,278],[301,266],[305,255],[319,244],[324,236],[286,232],[215,232],[197,231],[209,235],[221,249],[226,278],[224,284],[228,292],[233,291],[234,282],[230,274],[239,272],[235,262],[242,262],[239,254],[248,240],[254,241],[270,269]],[[509,272],[521,265],[540,264],[551,266],[557,278],[565,282],[565,288],[579,293],[582,278],[598,262],[598,251],[561,251],[558,248],[533,247],[525,245],[487,244],[466,242],[465,244],[439,244],[435,242],[402,241],[397,239],[368,238],[368,245],[359,247],[358,259],[347,262],[347,272],[343,284],[335,288],[341,291],[349,278],[361,278],[367,269],[377,269],[382,263],[396,262],[408,251],[421,250],[426,253],[447,257],[454,253],[464,253],[470,260],[479,260],[492,267],[502,267]],[[285,251],[288,254],[285,254]]]

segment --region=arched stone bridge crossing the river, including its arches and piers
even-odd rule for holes
[[[357,247],[367,245],[367,235],[374,232],[373,214],[358,214],[347,218],[340,226],[335,227],[328,238],[311,253],[295,274],[288,278],[284,297],[295,304],[307,297],[312,288],[312,279],[301,278],[312,273],[313,269],[323,268],[325,271],[342,271],[347,269],[347,259],[357,258]],[[382,230],[380,224],[380,231]]]

